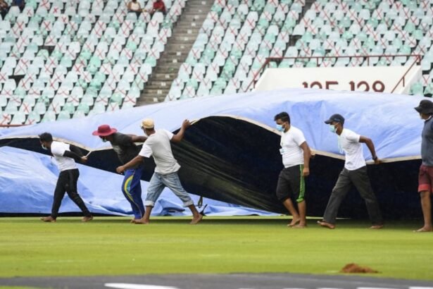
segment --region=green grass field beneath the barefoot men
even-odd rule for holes
[[[287,217],[96,217],[90,223],[59,217],[0,218],[0,277],[92,276],[148,273],[339,274],[348,263],[370,266],[391,278],[433,280],[433,233],[413,233],[415,223],[341,220],[336,230],[287,228]]]

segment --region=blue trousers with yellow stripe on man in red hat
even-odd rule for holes
[[[142,178],[143,168],[131,168],[125,171],[125,178],[123,178],[122,192],[128,202],[131,204],[134,219],[142,219],[144,215],[144,205],[142,200],[142,185],[140,178]]]

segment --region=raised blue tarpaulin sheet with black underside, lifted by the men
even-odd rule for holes
[[[285,209],[274,193],[282,163],[278,152],[280,135],[274,129],[273,117],[287,111],[291,124],[303,130],[317,154],[311,161],[307,200],[310,213],[319,216],[344,164],[337,135],[330,133],[323,121],[333,113],[340,113],[346,118],[345,127],[370,137],[379,158],[387,161],[369,166],[369,173],[384,211],[398,215],[405,208],[418,210],[416,176],[422,121],[413,107],[421,99],[304,89],[203,97],[0,130],[0,145],[42,152],[37,135],[47,131],[59,140],[92,151],[88,166],[114,172],[119,164],[113,149],[92,135],[99,125],[106,123],[121,133],[142,135],[139,123],[143,118],[153,118],[156,129],[172,132],[189,118],[194,124],[187,130],[184,141],[173,145],[182,166],[180,176],[185,188],[221,202],[282,213]],[[367,147],[364,154],[365,159],[371,160]],[[146,160],[144,166],[143,179],[149,180],[153,162]],[[111,173],[108,178],[119,177]],[[347,199],[342,214],[363,215],[362,200],[355,193]]]

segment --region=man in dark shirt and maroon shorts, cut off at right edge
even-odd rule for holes
[[[423,99],[420,105],[415,107],[424,121],[421,135],[421,159],[420,174],[418,176],[418,192],[421,197],[422,216],[424,226],[416,232],[431,232],[432,228],[432,200],[433,192],[433,102]]]

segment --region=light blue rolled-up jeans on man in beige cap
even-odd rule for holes
[[[187,191],[184,190],[180,183],[180,178],[176,173],[169,173],[168,175],[161,175],[160,173],[153,173],[149,187],[147,188],[146,201],[144,206],[154,207],[158,197],[163,192],[164,188],[168,187],[172,192],[179,197],[184,207],[191,206],[194,204],[191,197],[189,197]]]

